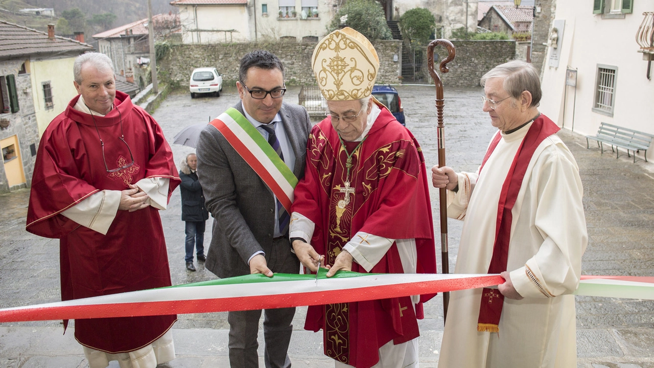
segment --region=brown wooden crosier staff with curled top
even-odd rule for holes
[[[436,84],[436,111],[438,113],[438,166],[445,166],[445,136],[443,136],[443,106],[445,100],[443,99],[443,83],[441,77],[434,70],[434,47],[445,46],[447,48],[447,58],[443,59],[440,64],[441,73],[447,73],[449,68],[445,65],[454,60],[455,49],[454,45],[446,39],[437,39],[429,43],[427,46],[427,68],[429,75],[434,79]],[[447,189],[445,187],[439,190],[439,204],[441,210],[441,260],[443,274],[449,274],[449,257],[447,255]],[[449,292],[443,293],[443,323],[447,318],[447,304],[449,304]]]

